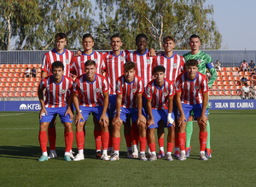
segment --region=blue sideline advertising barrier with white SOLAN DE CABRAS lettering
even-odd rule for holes
[[[256,99],[210,99],[210,110],[255,110]],[[0,111],[40,111],[39,101],[0,101]]]

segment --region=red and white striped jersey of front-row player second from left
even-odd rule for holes
[[[79,105],[95,107],[103,105],[103,93],[108,92],[108,81],[96,74],[94,82],[88,82],[85,75],[76,78],[73,92],[79,95]]]

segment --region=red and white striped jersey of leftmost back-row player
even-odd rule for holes
[[[64,48],[64,52],[62,54],[58,54],[54,49],[44,54],[43,64],[41,67],[42,71],[46,71],[48,76],[51,76],[51,64],[55,61],[61,61],[64,65],[64,76],[70,77],[70,63],[73,57],[73,52]]]

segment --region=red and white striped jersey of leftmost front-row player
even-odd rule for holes
[[[55,83],[53,76],[44,77],[39,87],[44,91],[44,106],[49,108],[64,107],[68,105],[68,96],[71,94],[73,80],[70,77],[62,76],[60,83]]]

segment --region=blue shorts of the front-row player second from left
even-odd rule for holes
[[[86,122],[88,119],[88,116],[90,115],[90,112],[92,113],[93,116],[96,116],[97,120],[100,120],[102,116],[103,106],[89,107],[89,106],[79,105],[79,109]],[[108,114],[106,115],[108,116]],[[84,121],[80,120],[80,122],[84,122]]]

